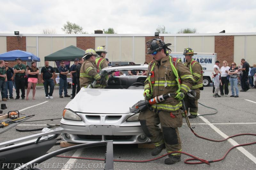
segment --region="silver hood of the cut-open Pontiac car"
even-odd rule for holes
[[[139,100],[144,100],[143,89],[92,89],[81,88],[65,108],[81,113],[130,113]]]

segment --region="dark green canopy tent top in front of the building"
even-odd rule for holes
[[[69,46],[44,57],[44,61],[74,61],[83,57],[85,51],[75,46]]]

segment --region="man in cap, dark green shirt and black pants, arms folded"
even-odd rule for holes
[[[21,63],[21,59],[15,59],[17,65],[14,66],[13,71],[15,73],[15,85],[16,85],[16,98],[15,100],[20,99],[20,89],[21,89],[21,99],[25,99],[25,74],[26,74],[26,65]]]

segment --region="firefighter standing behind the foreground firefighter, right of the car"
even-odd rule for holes
[[[196,62],[192,56],[196,55],[191,48],[185,48],[183,55],[185,55],[186,62],[184,65],[190,70],[191,74],[194,78],[194,85],[191,89],[195,90],[196,97],[192,98],[188,95],[185,95],[184,102],[186,106],[186,110],[189,110],[190,115],[188,116],[190,119],[195,118],[197,116],[198,111],[198,102],[197,100],[200,98],[200,88],[203,87],[203,68],[200,63]]]

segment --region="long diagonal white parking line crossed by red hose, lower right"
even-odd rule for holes
[[[199,115],[199,114],[198,114]],[[228,136],[223,133],[222,131],[220,131],[220,129],[218,129],[216,126],[214,126],[212,123],[210,123],[207,119],[205,119],[203,116],[199,116],[200,119],[202,119],[205,123],[207,123],[213,130],[215,130],[218,134],[220,134],[220,136],[227,138]],[[230,144],[232,144],[233,146],[238,145],[238,143],[236,141],[234,141],[233,139],[228,139],[228,142]],[[249,159],[251,159],[255,164],[256,164],[256,158],[248,151],[246,151],[243,147],[237,147],[236,149],[238,149],[240,152],[242,152],[245,156],[247,156]]]

